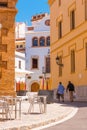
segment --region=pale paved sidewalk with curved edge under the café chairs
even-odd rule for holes
[[[0,130],[30,130],[60,121],[76,109],[70,104],[51,103],[47,104],[47,112],[41,114],[38,104],[35,104],[34,113],[29,114],[28,108],[29,102],[23,101],[21,119],[1,121]]]

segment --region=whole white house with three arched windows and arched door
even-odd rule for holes
[[[50,15],[36,15],[31,21],[32,26],[26,32],[25,65],[34,73],[27,77],[27,87],[29,91],[38,91],[49,89],[44,85],[41,88],[41,79],[50,78]]]

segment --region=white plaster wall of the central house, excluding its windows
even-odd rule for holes
[[[47,37],[50,36],[50,26],[45,25],[45,21],[50,19],[50,15],[46,15],[44,18],[38,21],[32,22],[32,27],[34,30],[26,32],[26,69],[31,70],[34,74],[31,75],[31,79],[27,80],[27,85],[30,87],[33,82],[40,82],[39,76],[42,75],[42,67],[45,66],[45,57],[48,55],[49,47],[32,47],[32,38],[41,36]],[[31,59],[32,56],[38,57],[38,69],[32,70]]]

